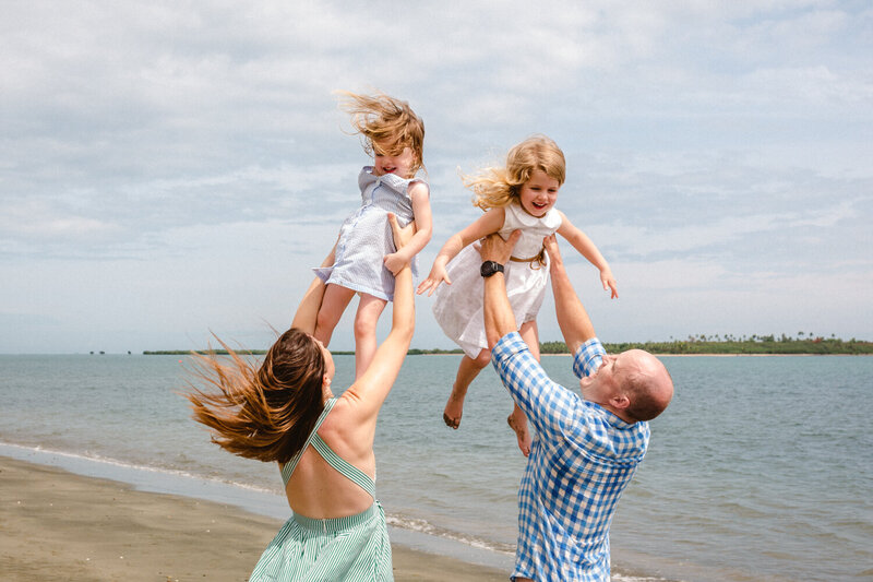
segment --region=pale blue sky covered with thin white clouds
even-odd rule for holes
[[[424,119],[424,272],[479,215],[458,169],[541,132],[605,341],[873,340],[866,0],[8,0],[0,87],[0,353],[268,345],[360,202],[335,90]]]

